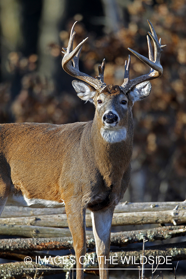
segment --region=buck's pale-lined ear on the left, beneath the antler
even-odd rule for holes
[[[95,97],[96,90],[93,86],[78,80],[73,80],[72,85],[75,91],[78,93],[77,95],[79,98],[94,104],[93,99]]]

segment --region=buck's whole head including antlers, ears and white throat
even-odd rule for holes
[[[165,45],[161,45],[161,39],[158,42],[158,38],[153,25],[148,20],[148,24],[152,32],[148,32],[148,34],[152,38],[154,43],[154,56],[149,36],[147,36],[149,59],[131,50],[130,48],[128,49],[150,67],[150,72],[148,74],[130,80],[129,74],[131,57],[129,55],[128,63],[127,61],[125,61],[125,74],[123,84],[121,86],[106,85],[104,83],[105,59],[103,60],[103,63],[98,67],[99,75],[96,78],[93,78],[79,71],[79,56],[81,53],[82,45],[87,41],[88,38],[83,40],[73,50],[75,24],[76,22],[73,24],[71,30],[68,47],[63,48],[64,58],[62,60],[62,67],[71,76],[84,81],[82,82],[74,80],[72,82],[72,85],[78,93],[78,97],[80,97],[82,100],[85,100],[86,102],[90,101],[95,105],[95,119],[98,120],[101,135],[105,139],[107,139],[107,141],[110,141],[111,139],[108,139],[107,131],[110,130],[111,132],[115,131],[116,129],[122,129],[121,133],[117,133],[117,139],[113,139],[112,137],[111,142],[125,139],[127,130],[126,126],[128,123],[128,118],[131,116],[132,105],[135,101],[142,100],[150,94],[151,83],[149,82],[149,80],[158,78],[162,75],[163,68],[160,64],[160,56],[163,51],[162,48]]]

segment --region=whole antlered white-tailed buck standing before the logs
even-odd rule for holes
[[[93,78],[79,71],[84,39],[73,50],[75,24],[62,67],[79,80],[72,85],[79,98],[95,105],[89,122],[0,124],[0,214],[5,205],[65,206],[76,255],[76,278],[83,278],[86,254],[86,209],[91,211],[100,278],[108,278],[110,232],[115,206],[123,198],[131,177],[134,102],[146,98],[152,79],[161,77],[162,48],[148,21],[149,59],[129,48],[150,67],[150,72],[130,80],[131,57],[125,62],[121,86],[104,83],[105,60]],[[81,260],[80,260],[81,259]]]

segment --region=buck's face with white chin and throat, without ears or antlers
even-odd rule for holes
[[[94,99],[100,134],[108,143],[126,140],[132,116],[129,97],[117,85],[108,85]]]

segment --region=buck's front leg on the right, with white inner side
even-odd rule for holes
[[[108,259],[110,251],[110,231],[114,208],[91,213],[95,237],[96,254],[100,268],[100,279],[108,279]]]

